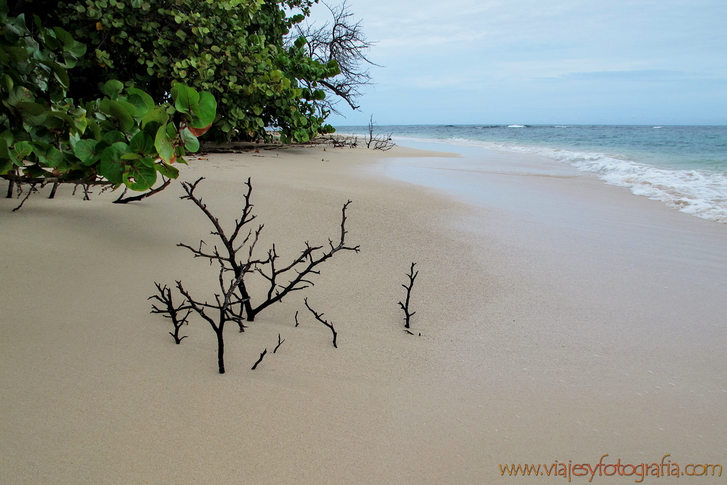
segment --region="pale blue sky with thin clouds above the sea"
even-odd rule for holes
[[[334,126],[727,125],[726,0],[348,4],[382,67]]]

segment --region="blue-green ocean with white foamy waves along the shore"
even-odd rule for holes
[[[366,126],[336,129],[368,133]],[[399,144],[542,155],[679,211],[727,223],[727,126],[375,126],[374,134],[390,135]]]

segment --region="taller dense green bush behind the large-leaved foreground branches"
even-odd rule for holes
[[[284,142],[330,133],[314,102],[337,62],[313,60],[305,38],[284,36],[300,23],[310,0],[35,0],[46,15],[93,49],[79,65],[74,97],[119,79],[164,99],[174,82],[211,91],[219,100],[211,134],[218,140],[265,137]],[[302,13],[287,17],[283,7]],[[305,82],[300,82],[305,81]],[[310,87],[308,87],[310,86]]]

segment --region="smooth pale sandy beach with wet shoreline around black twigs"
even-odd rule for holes
[[[2,199],[0,483],[494,484],[535,480],[503,475],[526,463],[555,483],[568,463],[571,481],[625,484],[676,478],[639,476],[660,460],[684,478],[726,466],[727,225],[535,155],[465,151],[191,159],[180,179],[204,176],[228,226],[252,178],[259,248],[283,261],[335,240],[349,199],[361,245],[226,327],[224,375],[206,322],[177,346],[149,313],[154,282],[216,288],[177,247],[213,241],[180,184],[129,205],[70,187],[16,213]],[[397,304],[411,262],[416,335]],[[599,460],[634,466],[572,466]]]

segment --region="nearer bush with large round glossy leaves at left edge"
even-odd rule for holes
[[[0,176],[19,183],[125,184],[144,191],[157,173],[177,178],[175,162],[196,151],[215,117],[212,94],[174,85],[174,105],[116,80],[102,99],[67,97],[68,69],[86,52],[60,27],[9,16],[0,0]],[[172,115],[178,113],[174,119]]]

